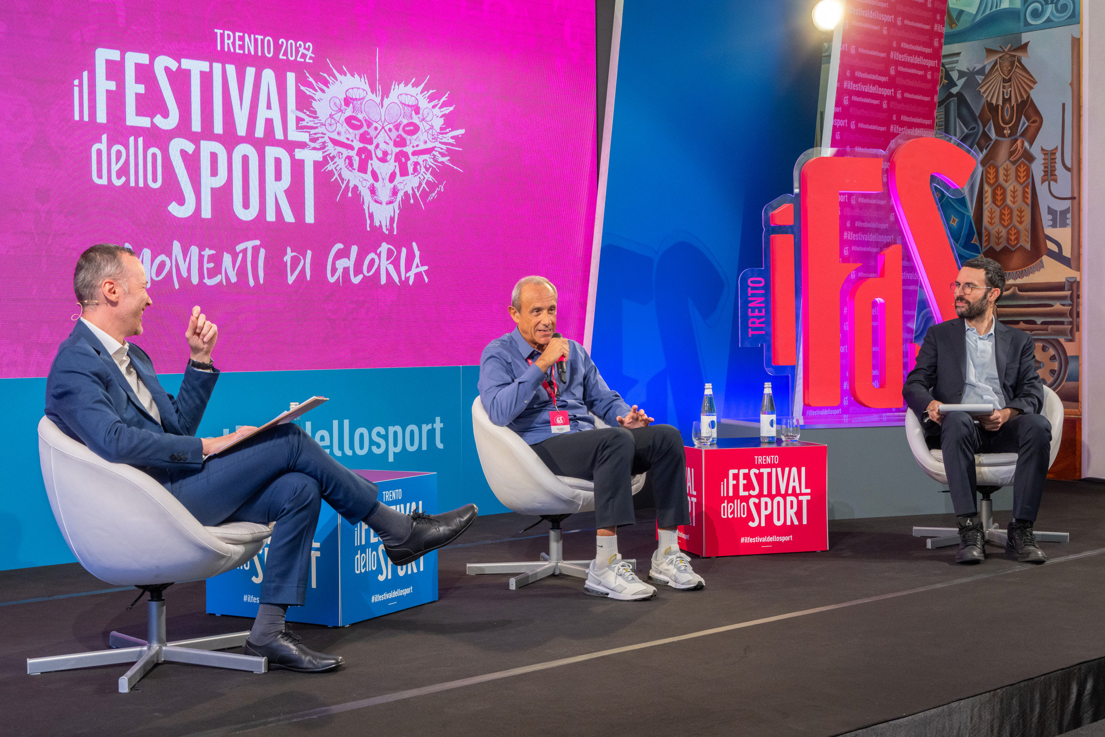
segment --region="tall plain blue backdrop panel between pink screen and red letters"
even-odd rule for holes
[[[734,315],[740,272],[761,265],[760,211],[814,145],[809,6],[625,4],[591,352],[687,438],[707,381],[725,418],[758,420],[764,381],[789,394]]]

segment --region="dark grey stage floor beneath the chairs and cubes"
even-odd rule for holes
[[[960,567],[955,548],[909,534],[950,516],[843,520],[828,552],[696,560],[705,590],[625,603],[585,596],[578,579],[509,591],[506,576],[465,576],[467,561],[546,549],[544,536],[504,541],[532,519],[496,515],[442,551],[440,601],[343,629],[296,625],[345,655],[335,673],[165,664],[130,694],[116,693],[126,666],[29,676],[25,659],[106,647],[113,629],[144,636],[144,608],[125,611],[133,590],[4,604],[110,587],[75,564],[2,571],[0,733],[839,735],[1105,657],[1102,518],[1102,486],[1050,482],[1038,527],[1072,541],[1044,544],[1046,566],[993,548]],[[566,530],[589,523],[578,515]],[[652,530],[621,530],[623,555],[643,561]],[[566,534],[565,548],[590,557],[593,538]],[[250,623],[204,614],[203,583],[167,599],[170,640]],[[693,636],[655,642],[680,635]]]

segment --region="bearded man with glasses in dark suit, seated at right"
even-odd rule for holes
[[[997,261],[982,256],[965,261],[950,286],[958,317],[928,328],[902,393],[922,419],[928,446],[944,453],[959,517],[956,561],[978,564],[986,558],[986,530],[976,506],[975,454],[1017,453],[1007,550],[1020,561],[1042,564],[1048,557],[1032,526],[1051,462],[1051,423],[1041,414],[1043,382],[1036,373],[1032,336],[998,322],[1006,272]],[[940,404],[989,404],[993,411],[979,418],[967,412],[944,414]]]

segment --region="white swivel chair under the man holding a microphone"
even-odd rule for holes
[[[608,427],[599,418],[594,418],[594,421],[599,428]],[[498,501],[518,514],[538,515],[552,527],[549,529],[549,551],[543,552],[540,560],[469,564],[469,576],[520,573],[511,578],[512,591],[547,576],[587,578],[590,560],[564,559],[560,523],[577,512],[594,509],[594,484],[582,478],[555,475],[516,432],[491,421],[478,397],[472,402],[472,431],[476,439],[480,465],[487,477],[487,485]],[[640,492],[642,486],[643,473],[633,476],[633,493]],[[625,562],[636,567],[635,560]]]

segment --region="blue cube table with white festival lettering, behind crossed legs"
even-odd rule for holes
[[[380,503],[403,514],[433,513],[438,474],[403,471],[354,471],[380,487]],[[207,581],[209,614],[256,617],[269,545],[253,560]],[[438,600],[438,554],[407,566],[388,560],[383,544],[359,523],[350,525],[326,503],[311,552],[307,600],[290,607],[291,622],[344,627]]]

